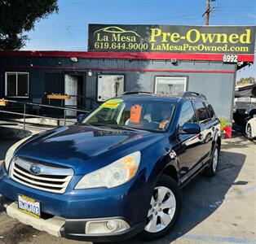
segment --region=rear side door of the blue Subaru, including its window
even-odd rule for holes
[[[199,139],[201,144],[198,148],[201,162],[205,163],[210,157],[210,150],[213,145],[214,138],[214,122],[211,120],[210,115],[205,106],[205,102],[193,101],[198,123],[201,126],[201,133]]]

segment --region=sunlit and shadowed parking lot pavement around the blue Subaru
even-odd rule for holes
[[[11,140],[0,140],[0,160]],[[108,206],[106,206],[108,207]],[[11,219],[0,209],[0,243],[91,243],[52,237]],[[198,176],[183,189],[183,210],[163,239],[130,243],[256,243],[256,143],[235,136],[223,140],[218,174]]]

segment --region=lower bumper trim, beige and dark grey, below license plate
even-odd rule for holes
[[[0,194],[0,204],[4,207],[8,216],[19,220],[23,224],[32,226],[34,229],[45,231],[55,237],[65,237],[73,240],[90,242],[120,242],[140,233],[145,223],[134,224],[130,229],[118,233],[87,234],[86,223],[96,220],[115,220],[123,217],[101,218],[101,219],[64,219],[58,216],[38,219],[18,210],[17,203]],[[126,220],[125,220],[126,221]]]

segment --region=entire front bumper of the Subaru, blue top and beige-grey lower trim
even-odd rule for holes
[[[12,181],[0,165],[0,203],[7,215],[35,229],[57,237],[92,242],[119,242],[141,232],[145,226],[152,184],[141,178],[115,189],[73,190],[74,179],[66,193],[52,194]],[[42,203],[42,219],[29,216],[17,209],[18,195],[34,198]],[[119,233],[86,234],[86,223],[91,220],[125,220],[130,225]]]

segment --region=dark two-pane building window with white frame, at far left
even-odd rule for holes
[[[28,72],[6,72],[6,97],[29,97]]]

